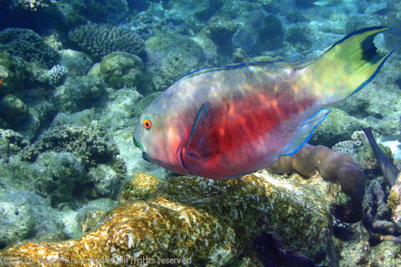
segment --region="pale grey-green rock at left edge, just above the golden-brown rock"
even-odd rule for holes
[[[0,248],[48,231],[59,231],[59,220],[50,201],[28,191],[0,194]]]

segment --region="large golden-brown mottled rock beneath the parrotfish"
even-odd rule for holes
[[[326,255],[332,246],[330,225],[328,198],[316,186],[269,174],[226,181],[172,177],[148,202],[122,202],[80,238],[17,243],[0,256],[86,258],[81,266],[93,264],[89,257],[112,259],[102,265],[124,259],[120,265],[128,266],[138,258],[160,265],[158,259],[185,258],[198,265],[229,266],[257,235],[268,232],[281,251],[322,264],[331,260]]]

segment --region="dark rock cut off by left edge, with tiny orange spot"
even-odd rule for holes
[[[12,94],[24,86],[24,61],[7,52],[0,51],[0,98]]]

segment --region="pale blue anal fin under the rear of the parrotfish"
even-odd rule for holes
[[[300,150],[301,147],[306,144],[306,142],[308,142],[316,126],[326,119],[327,114],[329,114],[330,111],[331,110],[328,109],[322,109],[306,119],[291,143],[288,145],[283,156],[289,156],[297,153],[297,151]]]

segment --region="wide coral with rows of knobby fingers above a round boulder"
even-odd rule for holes
[[[107,24],[86,24],[72,30],[72,42],[99,60],[111,52],[121,51],[144,56],[145,45],[135,32]]]

